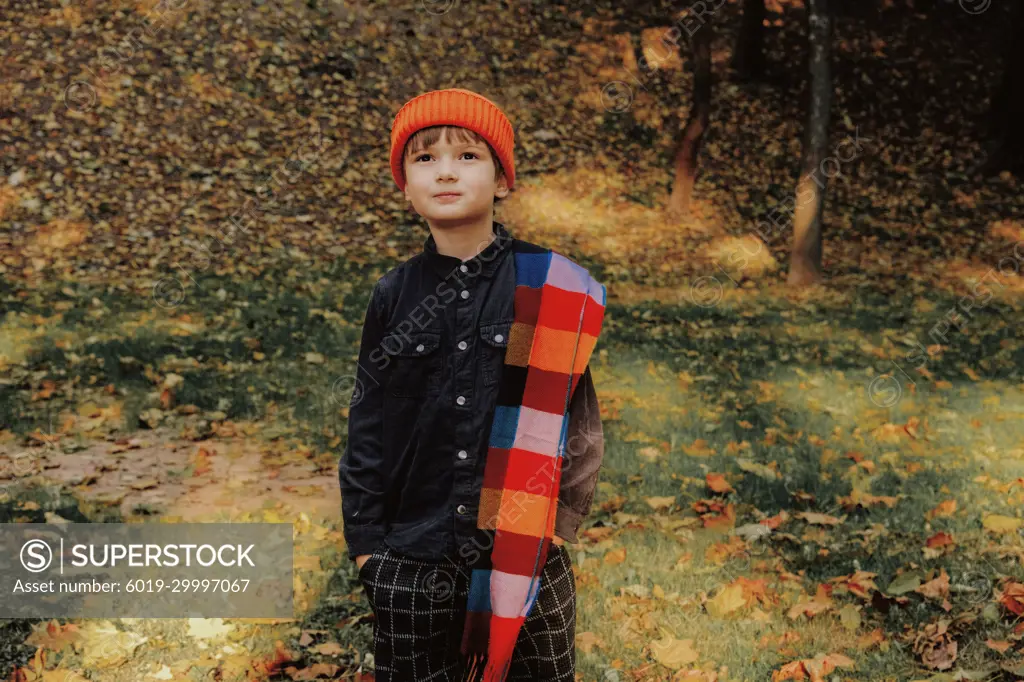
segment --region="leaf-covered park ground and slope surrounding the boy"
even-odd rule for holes
[[[713,125],[670,222],[683,6],[0,2],[0,521],[292,521],[297,595],[291,622],[0,621],[0,675],[372,672],[335,467],[367,296],[427,236],[391,117],[460,86],[516,126],[497,217],[608,287],[580,678],[1024,677],[1024,194],[971,175],[1006,8],[837,19],[828,281],[801,293],[801,9],[769,8],[763,85],[726,70],[734,4],[699,29]]]

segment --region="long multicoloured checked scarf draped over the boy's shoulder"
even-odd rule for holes
[[[465,680],[502,682],[541,589],[558,510],[568,406],[604,321],[606,291],[550,249],[516,241],[514,322],[483,468],[469,563]],[[481,676],[482,672],[482,678]]]

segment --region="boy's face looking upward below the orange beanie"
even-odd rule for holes
[[[416,152],[407,146],[402,164],[406,199],[437,224],[493,215],[495,197],[504,199],[509,193],[504,173],[495,179],[486,142],[450,141],[446,130],[430,146]]]

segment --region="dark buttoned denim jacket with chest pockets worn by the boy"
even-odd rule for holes
[[[498,381],[512,325],[514,240],[496,239],[463,262],[437,253],[433,236],[381,278],[367,308],[338,466],[348,555],[382,548],[458,560],[478,542]],[[555,535],[577,542],[604,455],[590,367],[577,384]]]

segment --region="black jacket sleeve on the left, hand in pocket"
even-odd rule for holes
[[[348,438],[338,463],[341,514],[349,558],[371,554],[387,535],[384,467],[384,388],[387,358],[381,341],[385,325],[378,281],[367,306],[359,342],[355,386],[348,408]]]

